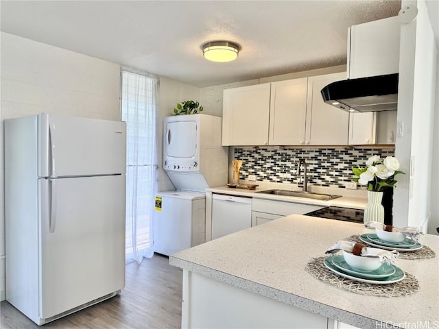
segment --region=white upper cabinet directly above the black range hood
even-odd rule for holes
[[[398,16],[348,29],[348,77],[398,73],[400,30]]]

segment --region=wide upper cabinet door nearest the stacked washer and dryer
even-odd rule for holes
[[[268,145],[270,84],[224,90],[222,145]]]

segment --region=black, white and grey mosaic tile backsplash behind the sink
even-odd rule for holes
[[[297,175],[298,161],[307,162],[307,182],[328,187],[344,188],[354,178],[352,167],[364,166],[373,155],[394,156],[394,148],[300,148],[268,149],[236,147],[234,158],[242,160],[239,178],[247,180],[248,175],[257,175],[259,182],[300,184]],[[303,169],[301,169],[303,170]],[[302,175],[300,175],[302,176]]]

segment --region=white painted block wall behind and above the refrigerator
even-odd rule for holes
[[[4,119],[40,112],[120,120],[118,64],[3,32],[0,46],[0,138]],[[0,142],[2,156],[3,141]],[[4,300],[3,158],[0,180],[0,300]]]

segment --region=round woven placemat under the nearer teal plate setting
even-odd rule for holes
[[[324,266],[323,260],[327,257],[311,258],[307,264],[307,271],[318,280],[333,284],[341,289],[358,293],[359,295],[377,296],[377,297],[398,297],[411,295],[419,290],[418,280],[407,272],[405,278],[399,282],[390,284],[370,284],[359,282],[338,276]]]

